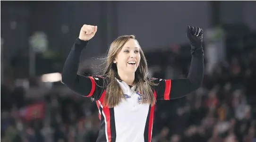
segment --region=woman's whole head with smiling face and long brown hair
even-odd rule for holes
[[[103,105],[110,108],[119,104],[123,91],[116,79],[124,79],[129,85],[136,85],[145,97],[143,103],[155,104],[151,86],[148,80],[148,67],[145,55],[134,35],[122,35],[115,39],[108,50],[103,76],[108,80]]]

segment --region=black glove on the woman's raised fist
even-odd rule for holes
[[[187,37],[191,44],[191,50],[196,50],[203,47],[203,29],[188,25]]]

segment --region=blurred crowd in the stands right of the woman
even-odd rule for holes
[[[218,64],[186,98],[158,102],[153,142],[256,142],[256,49],[247,53]]]

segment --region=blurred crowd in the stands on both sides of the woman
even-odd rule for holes
[[[235,54],[187,97],[157,101],[152,142],[256,142],[255,55],[255,47]],[[34,102],[24,93],[1,84],[1,142],[96,141],[95,102],[59,92]]]

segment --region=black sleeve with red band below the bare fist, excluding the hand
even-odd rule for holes
[[[105,79],[100,76],[77,75],[79,59],[88,41],[76,39],[62,70],[62,82],[73,92],[84,97],[99,99]]]

